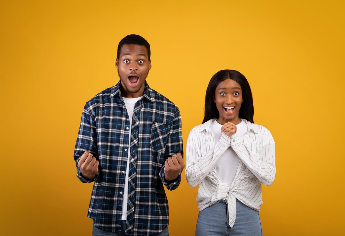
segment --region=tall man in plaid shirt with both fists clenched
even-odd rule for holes
[[[146,82],[150,54],[141,36],[121,39],[120,81],[82,113],[74,159],[77,177],[95,182],[88,211],[93,235],[168,235],[163,184],[176,189],[185,167],[181,116]]]

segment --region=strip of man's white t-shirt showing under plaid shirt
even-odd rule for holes
[[[132,130],[132,118],[133,118],[133,112],[136,102],[138,102],[141,97],[135,97],[135,98],[128,98],[128,97],[122,97],[122,99],[125,102],[127,113],[129,116],[129,140]],[[123,204],[122,204],[122,220],[127,219],[127,200],[128,200],[128,171],[129,171],[129,157],[130,157],[130,142],[128,144],[128,157],[127,157],[127,168],[126,168],[126,181],[125,181],[125,189],[124,189],[124,198],[123,198]]]

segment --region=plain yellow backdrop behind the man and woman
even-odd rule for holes
[[[91,235],[92,184],[76,178],[73,150],[132,33],[151,45],[149,85],[180,108],[184,146],[211,76],[247,77],[254,121],[276,142],[264,235],[344,233],[343,1],[123,2],[1,1],[0,234]],[[197,188],[183,177],[167,194],[170,235],[193,235]]]

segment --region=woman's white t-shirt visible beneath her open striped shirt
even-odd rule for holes
[[[214,120],[211,124],[211,131],[215,138],[215,142],[218,142],[221,136],[221,124]],[[247,132],[247,124],[241,121],[239,124],[236,125],[237,127],[237,136],[239,140],[243,140],[243,135]],[[239,158],[235,151],[229,147],[223,155],[219,158],[216,164],[216,173],[220,179],[220,182],[227,183],[231,185],[231,183],[235,179],[235,174],[238,168]]]

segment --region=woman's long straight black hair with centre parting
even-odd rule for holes
[[[217,110],[215,100],[216,88],[219,83],[226,79],[232,79],[236,81],[242,89],[243,102],[239,110],[238,117],[246,119],[247,121],[254,123],[254,104],[252,90],[250,89],[249,83],[237,70],[219,70],[214,76],[212,76],[208,83],[205,96],[205,116],[203,123],[206,121],[219,118],[219,112]]]

